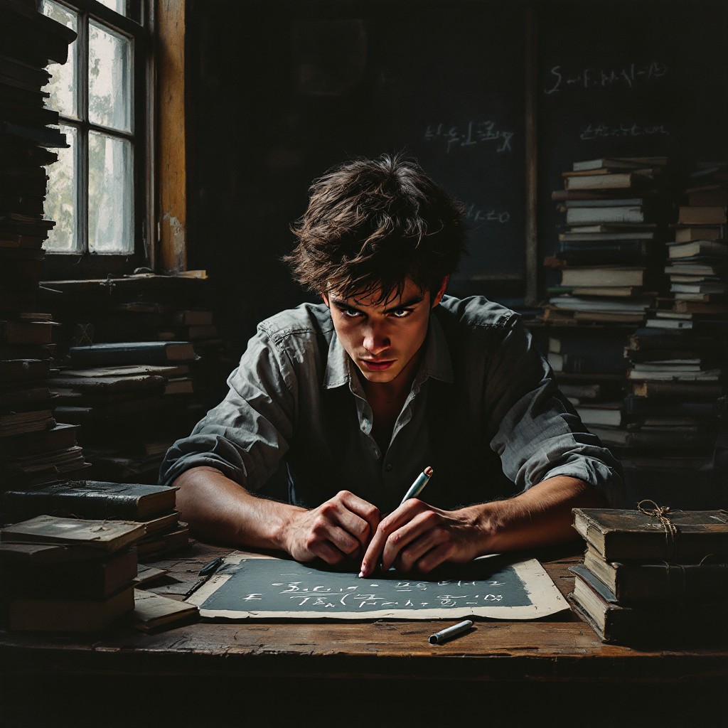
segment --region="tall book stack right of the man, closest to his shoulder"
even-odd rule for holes
[[[545,265],[558,275],[544,321],[547,359],[582,422],[622,431],[628,336],[654,305],[666,222],[658,195],[664,157],[591,159],[554,191],[566,213]]]

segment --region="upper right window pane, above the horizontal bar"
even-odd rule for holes
[[[89,119],[131,131],[132,41],[89,20]]]

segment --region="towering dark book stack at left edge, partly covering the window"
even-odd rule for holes
[[[52,316],[39,313],[47,171],[63,148],[58,113],[41,90],[76,33],[20,2],[0,3],[0,481],[2,488],[78,477],[76,430],[58,426],[48,387]]]

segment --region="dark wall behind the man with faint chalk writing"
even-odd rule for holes
[[[574,159],[727,157],[727,4],[536,7],[545,253]],[[188,262],[234,347],[306,298],[278,260],[288,226],[312,179],[357,155],[406,149],[464,202],[451,293],[523,296],[524,18],[515,0],[188,1]]]

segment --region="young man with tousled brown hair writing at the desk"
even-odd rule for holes
[[[415,162],[331,171],[293,232],[288,262],[323,304],[258,325],[225,400],[162,464],[198,537],[426,573],[571,539],[571,508],[617,505],[619,464],[518,314],[444,296],[462,218]],[[256,497],[282,459],[289,502]]]

